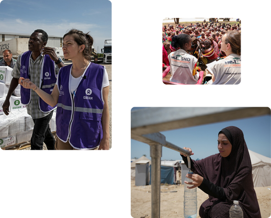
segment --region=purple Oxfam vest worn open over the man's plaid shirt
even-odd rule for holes
[[[30,79],[29,74],[29,61],[31,56],[31,51],[26,51],[21,55],[21,66],[20,66],[20,76],[25,79]],[[53,87],[56,83],[56,75],[55,75],[55,68],[54,68],[54,61],[50,58],[48,54],[44,55],[41,72],[40,72],[40,89],[44,92],[51,94]],[[20,94],[21,94],[21,103],[22,104],[29,104],[30,103],[30,96],[31,96],[31,89],[20,87]],[[50,105],[46,104],[41,98],[38,98],[38,106],[42,112],[49,112],[53,110],[56,106],[51,107]]]

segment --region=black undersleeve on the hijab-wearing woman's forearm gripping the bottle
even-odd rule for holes
[[[203,178],[203,182],[199,186],[199,188],[210,196],[213,196],[221,200],[226,200],[224,189],[216,186],[215,184],[211,183],[209,180],[205,178]]]

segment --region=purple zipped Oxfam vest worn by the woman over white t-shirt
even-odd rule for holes
[[[88,65],[75,95],[69,90],[71,67],[72,64],[62,67],[58,74],[56,135],[63,142],[69,141],[75,149],[92,149],[103,138],[101,120],[104,67],[95,63]]]

